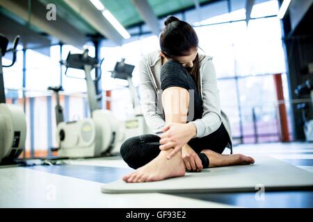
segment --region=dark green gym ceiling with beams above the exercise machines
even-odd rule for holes
[[[157,19],[195,8],[196,3],[202,6],[220,0],[100,1],[125,28],[148,24],[151,30],[156,33],[156,26],[159,26]],[[136,1],[139,6],[134,3]],[[140,10],[140,4],[143,1],[147,3],[146,8],[150,8],[150,10],[147,10],[149,13],[145,15]],[[56,6],[56,21],[48,22],[46,19],[46,6],[48,3],[54,3]],[[18,25],[19,27],[18,29],[10,28],[10,24],[6,28],[0,26],[0,33],[9,36],[17,33],[33,35],[33,37],[24,36],[23,44],[27,47],[30,45],[38,47],[38,42],[35,42],[36,38],[34,36],[38,36],[38,41],[43,36],[49,40],[50,44],[63,42],[78,47],[83,46],[83,42],[87,42],[90,40],[90,36],[95,35],[106,37],[117,45],[122,44],[120,34],[88,0],[0,0],[0,16],[6,17],[8,23],[12,22],[12,24],[14,23],[15,26]],[[154,24],[152,24],[153,22]],[[152,27],[153,25],[154,27]],[[27,29],[27,31],[23,29]],[[42,39],[40,40],[42,41]]]

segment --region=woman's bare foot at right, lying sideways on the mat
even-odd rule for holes
[[[247,157],[242,154],[223,155],[211,150],[203,150],[201,153],[204,153],[209,158],[209,167],[225,167],[255,163],[252,157]]]

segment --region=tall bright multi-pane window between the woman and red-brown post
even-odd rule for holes
[[[256,1],[252,17],[265,18],[251,19],[248,26],[244,5],[245,1],[230,1],[232,12],[206,14],[211,17],[195,22],[195,30],[200,47],[213,56],[221,108],[230,117],[233,137],[242,136],[245,143],[278,141],[278,106],[272,75],[286,71],[280,20],[275,17],[278,1]],[[215,3],[209,4],[205,10],[216,7]],[[230,22],[240,19],[243,21]],[[283,81],[286,93],[287,79]]]

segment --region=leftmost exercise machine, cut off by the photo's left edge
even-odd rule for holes
[[[16,48],[19,36],[15,37],[13,48],[7,49],[8,39],[0,34],[0,163],[10,164],[15,161],[25,148],[26,118],[22,108],[6,104],[3,67],[11,67],[16,61]],[[2,57],[9,51],[13,53],[10,65],[2,65]]]

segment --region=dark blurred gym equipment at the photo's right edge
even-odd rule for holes
[[[295,89],[295,93],[298,97],[310,95],[313,106],[313,85],[310,80],[306,80],[305,83],[298,85]],[[307,103],[300,103],[296,106],[296,108],[302,112],[305,139],[307,142],[313,142],[313,119],[308,117],[308,110],[310,110],[309,105]]]

